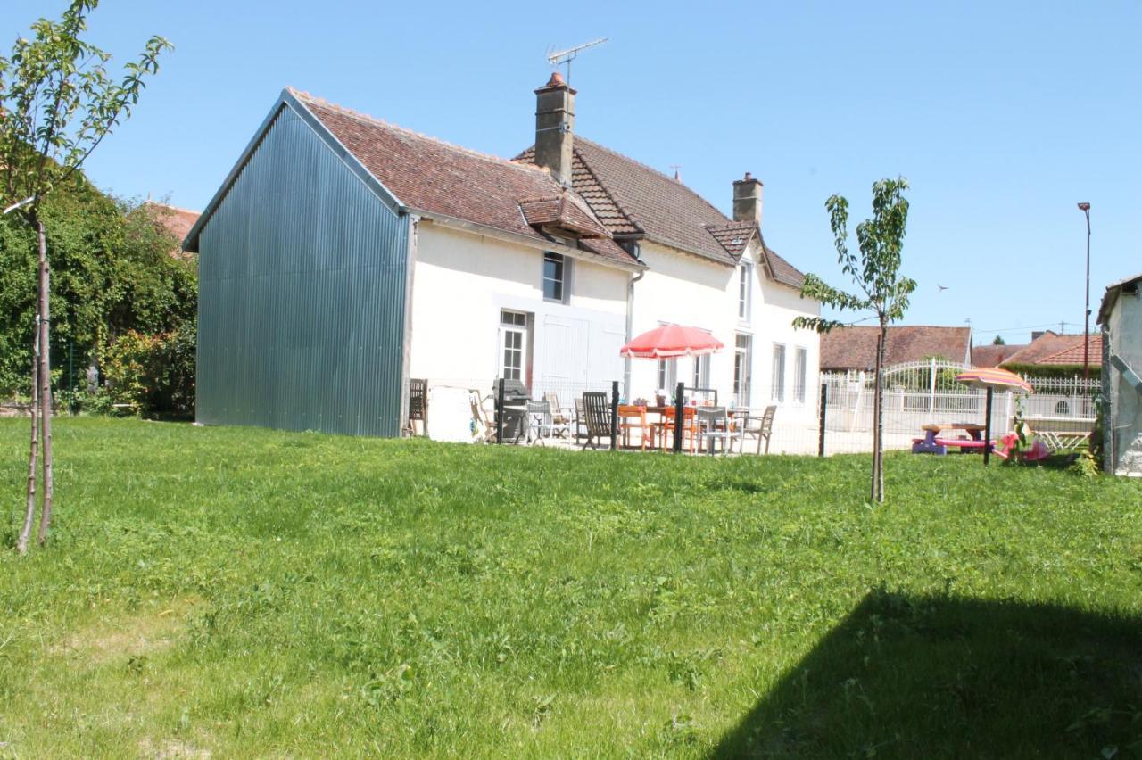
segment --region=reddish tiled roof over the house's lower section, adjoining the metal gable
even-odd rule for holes
[[[289,90],[402,203],[429,216],[444,215],[537,241],[521,201],[555,199],[563,187],[545,169],[469,151]],[[589,207],[572,204],[569,220],[605,231]],[[605,233],[604,233],[605,234]],[[637,264],[610,236],[584,242],[584,250],[614,262]]]

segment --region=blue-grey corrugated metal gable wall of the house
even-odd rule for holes
[[[201,231],[199,421],[399,435],[407,235],[282,110]]]

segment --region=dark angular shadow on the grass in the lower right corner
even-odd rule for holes
[[[1142,620],[874,592],[711,757],[1142,757]]]

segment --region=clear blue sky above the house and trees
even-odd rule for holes
[[[0,31],[64,5],[6,0]],[[118,60],[152,33],[176,50],[88,173],[201,209],[287,84],[510,156],[531,143],[545,54],[608,37],[572,65],[579,134],[681,164],[723,211],[751,171],[767,243],[837,285],[825,200],[849,196],[855,221],[871,183],[902,175],[919,282],[904,322],[970,318],[976,342],[1026,342],[1036,326],[1080,329],[1077,201],[1093,205],[1093,308],[1142,270],[1140,32],[1137,1],[104,0],[91,38]]]

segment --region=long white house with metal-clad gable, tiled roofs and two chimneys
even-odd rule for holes
[[[534,144],[508,161],[284,90],[184,241],[198,420],[393,436],[410,378],[564,404],[679,380],[812,420],[818,337],[791,322],[819,305],[763,241],[762,184],[733,183],[727,217],[577,137],[574,95],[558,74],[536,90]],[[620,358],[661,323],[726,350]]]

